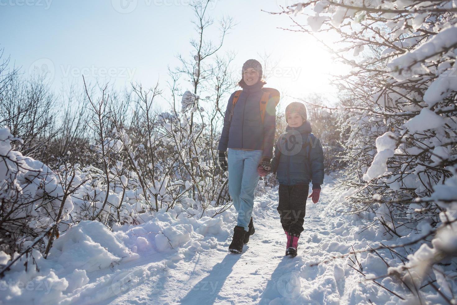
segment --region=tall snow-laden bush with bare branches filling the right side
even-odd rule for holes
[[[416,301],[425,281],[446,289],[456,264],[456,12],[451,0],[314,0],[283,11],[307,15],[303,32],[352,68],[335,79],[350,212],[371,218],[386,239],[415,239],[413,251],[432,238],[414,254],[404,249],[405,264],[391,252],[400,267],[388,274]]]

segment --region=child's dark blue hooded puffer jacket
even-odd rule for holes
[[[324,152],[320,140],[311,131],[311,124],[306,121],[297,128],[287,126],[286,132],[279,136],[271,168],[276,169],[280,184],[313,182],[315,189],[324,183]]]

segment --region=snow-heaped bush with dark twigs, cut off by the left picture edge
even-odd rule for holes
[[[9,254],[35,245],[44,250],[49,247],[48,236],[68,228],[74,181],[12,150],[12,140],[20,139],[0,128],[1,248]]]

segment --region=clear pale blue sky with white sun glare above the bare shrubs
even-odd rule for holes
[[[216,0],[210,15],[232,16],[237,25],[226,37],[223,52],[234,50],[234,70],[257,53],[278,61],[279,75],[268,86],[292,96],[328,93],[326,73],[335,73],[329,55],[311,37],[283,31],[288,16],[278,11],[287,0]],[[53,87],[79,82],[84,74],[117,87],[131,81],[166,86],[167,65],[175,55],[188,56],[195,36],[189,0],[0,0],[0,48],[27,75],[36,67],[53,71]],[[123,4],[123,6],[122,6]],[[298,20],[304,22],[303,16]],[[217,33],[212,39],[218,41]],[[4,54],[4,56],[5,56]],[[277,71],[276,71],[277,72]],[[275,72],[275,73],[276,73]],[[112,77],[106,77],[112,75]]]

